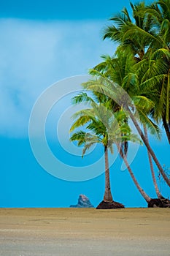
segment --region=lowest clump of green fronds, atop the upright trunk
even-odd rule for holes
[[[74,132],[70,138],[71,141],[77,140],[78,146],[84,146],[82,157],[94,143],[101,143],[105,148],[109,148],[111,153],[113,144],[121,145],[128,140],[140,143],[136,135],[131,134],[123,110],[113,114],[102,102],[90,101],[90,105],[90,109],[80,110],[74,114],[76,120],[70,129],[70,132],[73,132],[74,129],[84,127],[84,130]]]

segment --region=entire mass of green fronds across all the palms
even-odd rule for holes
[[[90,104],[74,114],[70,129],[85,129],[71,137],[84,145],[82,154],[93,143],[111,151],[114,143],[126,151],[129,140],[141,143],[128,126],[129,110],[159,139],[161,120],[170,124],[170,2],[130,4],[133,19],[124,8],[104,29],[104,39],[118,43],[115,54],[101,56],[101,63],[89,70],[92,78],[82,83],[85,91],[73,98],[73,104]]]

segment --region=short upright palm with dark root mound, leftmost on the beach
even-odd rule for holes
[[[85,129],[88,129],[89,132],[79,130],[71,136],[70,140],[77,140],[78,146],[84,145],[84,148],[82,150],[82,157],[85,154],[85,151],[87,151],[91,146],[93,146],[93,144],[101,143],[101,145],[104,146],[104,200],[98,205],[97,208],[124,208],[123,204],[113,201],[109,178],[108,150],[110,150],[111,153],[113,152],[112,143],[118,139],[118,135],[120,138],[120,127],[116,127],[117,121],[114,120],[112,113],[107,108],[105,108],[103,105],[97,105],[95,102],[92,102],[91,105],[93,108],[81,110],[80,112],[74,115],[78,118],[70,129],[70,131],[72,132],[77,127],[80,127],[88,123]],[[109,138],[109,125],[111,125],[112,128],[114,127],[114,134],[112,133],[112,140]]]

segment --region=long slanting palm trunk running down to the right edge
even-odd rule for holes
[[[139,135],[141,136],[141,138],[144,142],[144,145],[147,147],[147,150],[150,152],[152,159],[154,160],[155,164],[158,167],[158,170],[160,171],[161,175],[163,176],[164,180],[166,181],[166,184],[168,184],[170,187],[170,179],[168,178],[168,176],[166,176],[166,173],[164,172],[163,168],[161,167],[157,157],[155,156],[154,151],[152,151],[150,144],[147,142],[146,138],[144,137],[142,129],[139,127],[139,124],[137,123],[136,119],[134,118],[134,115],[131,113],[131,110],[129,108],[127,108],[127,110],[128,110],[129,116],[131,117],[131,120],[134,123],[134,126],[136,127],[137,131],[139,132]]]

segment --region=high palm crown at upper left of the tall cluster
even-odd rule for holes
[[[152,33],[152,35],[155,35],[155,33],[152,31],[150,18],[148,17],[146,19],[143,15],[140,15],[145,8],[144,2],[136,5],[130,4],[134,22],[131,20],[128,10],[124,8],[118,15],[110,18],[114,22],[114,25],[107,26],[104,30],[103,38],[118,42],[121,50],[128,53],[131,51],[136,61],[142,61],[150,46],[150,38],[144,37],[143,34],[150,35]],[[140,34],[139,31],[141,31]]]

